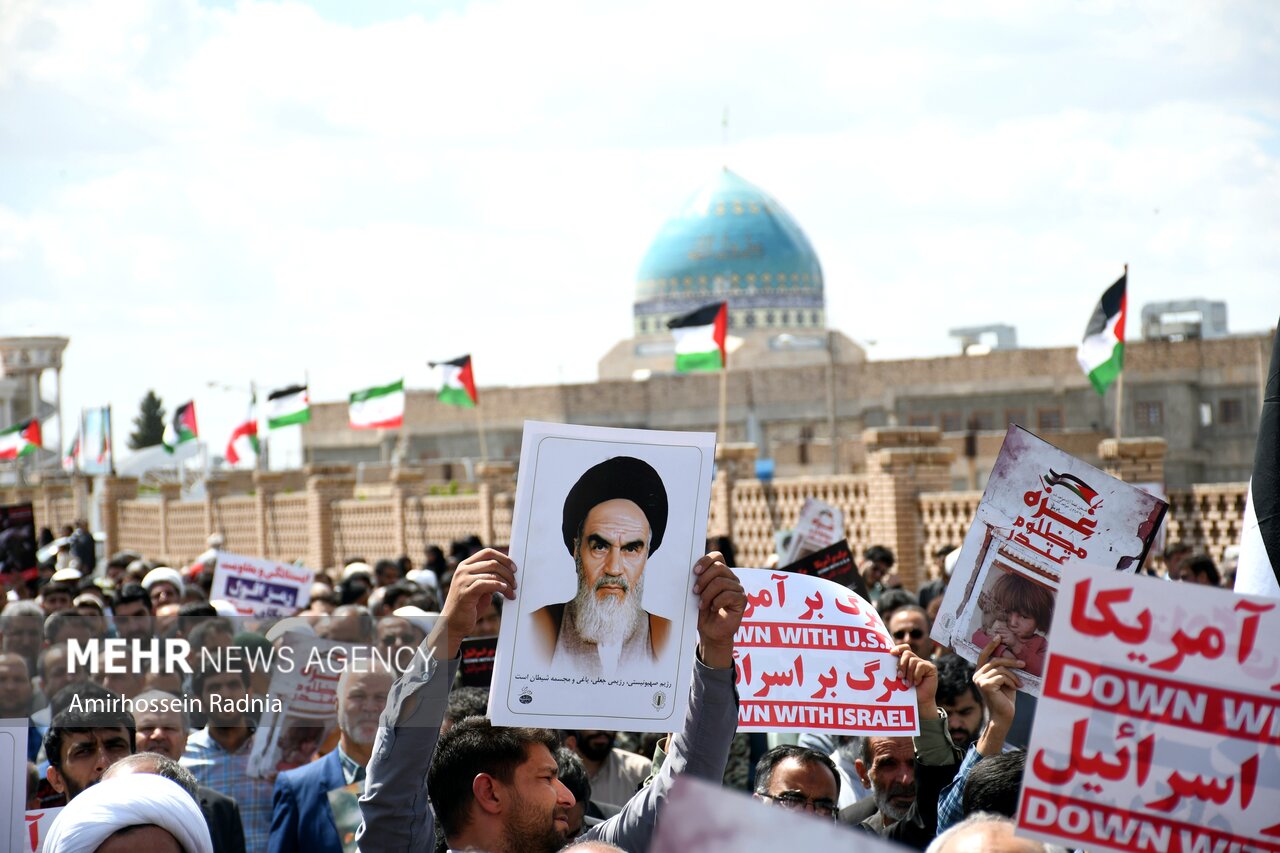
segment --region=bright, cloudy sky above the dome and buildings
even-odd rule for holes
[[[147,388],[218,448],[210,380],[591,380],[724,163],[876,359],[1075,343],[1125,263],[1134,319],[1261,330],[1277,131],[1267,0],[0,0],[0,334],[68,336],[64,407],[122,448]]]

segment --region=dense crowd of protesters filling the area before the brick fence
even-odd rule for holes
[[[431,546],[417,566],[351,558],[317,573],[303,611],[259,624],[210,601],[219,544],[211,538],[210,552],[180,570],[132,552],[95,566],[81,528],[38,578],[0,601],[0,717],[28,720],[28,808],[65,807],[46,849],[338,853],[349,839],[329,794],[355,784],[366,852],[572,844],[643,853],[682,774],[741,789],[760,808],[915,849],[1044,849],[1011,835],[1036,712],[1016,688],[1020,672],[1041,665],[1043,602],[1002,590],[1007,625],[975,637],[984,646],[977,665],[940,648],[929,633],[955,548],[936,552],[915,590],[893,573],[891,551],[863,553],[860,575],[897,643],[922,725],[915,738],[859,738],[736,731],[733,637],[746,602],[730,542],[709,543],[691,567],[698,654],[687,715],[666,736],[485,719],[486,689],[458,683],[460,646],[498,633],[520,567],[477,539],[448,553]],[[1212,560],[1183,546],[1152,562],[1147,571],[1170,580],[1224,583]],[[86,676],[69,653],[73,640],[180,638],[198,663],[204,649],[269,649],[285,631],[424,653],[397,658],[402,667],[344,671],[334,734],[306,743],[297,766],[270,777],[248,772],[257,725],[248,699],[268,694],[269,672],[197,665]],[[150,710],[90,702],[111,697]],[[183,702],[191,697],[200,702]]]

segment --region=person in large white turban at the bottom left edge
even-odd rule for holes
[[[67,804],[45,853],[214,853],[191,794],[152,774],[104,779]]]

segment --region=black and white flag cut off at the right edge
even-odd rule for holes
[[[1280,598],[1280,330],[1271,343],[1253,478],[1240,528],[1235,592]]]

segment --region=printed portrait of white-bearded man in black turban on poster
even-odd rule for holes
[[[666,530],[667,489],[648,462],[616,456],[579,478],[561,524],[577,594],[531,613],[552,666],[604,675],[662,656],[671,620],[644,610],[644,569]]]

